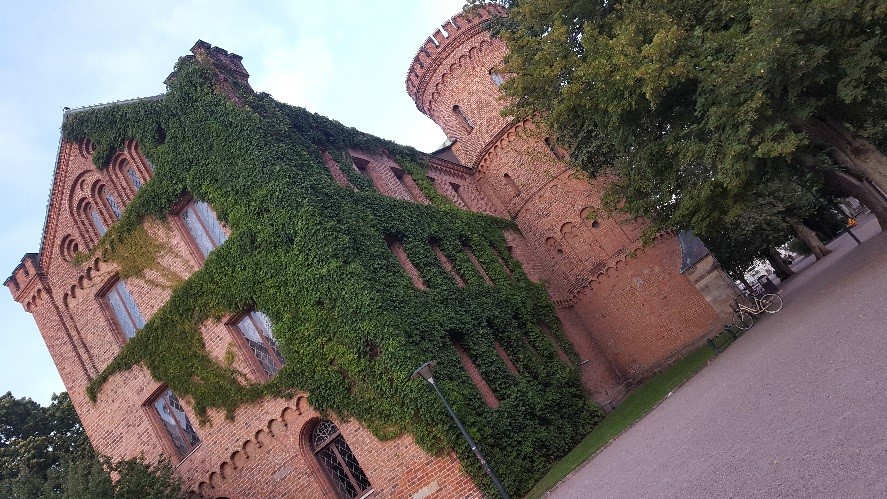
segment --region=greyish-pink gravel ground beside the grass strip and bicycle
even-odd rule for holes
[[[887,233],[854,232],[549,497],[887,497]]]

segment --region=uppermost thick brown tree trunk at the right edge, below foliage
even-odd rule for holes
[[[814,141],[830,146],[828,154],[859,178],[868,178],[887,192],[887,156],[843,123],[818,114],[797,126]]]

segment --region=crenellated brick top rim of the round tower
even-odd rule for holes
[[[431,33],[413,57],[406,78],[407,93],[413,98],[419,111],[428,114],[423,103],[425,89],[441,61],[463,41],[487,29],[494,17],[503,16],[506,12],[505,7],[499,5],[483,5],[469,12],[456,14]]]

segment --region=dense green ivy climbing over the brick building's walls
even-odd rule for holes
[[[90,384],[92,400],[111,376],[137,364],[189,399],[202,422],[210,408],[233,417],[243,404],[306,392],[319,411],[357,418],[379,438],[406,432],[429,452],[455,449],[488,487],[434,393],[409,380],[417,366],[437,359],[436,379],[506,487],[528,490],[600,414],[575,367],[559,360],[539,329],[547,325],[575,365],[545,290],[506,250],[503,230],[513,223],[458,209],[440,196],[417,151],[267,94],[241,89],[234,103],[215,91],[211,71],[182,59],[163,99],[66,117],[64,138],[89,138],[97,167],[126,139],[137,140],[155,165],[153,178],[95,250],[117,262],[122,277],[169,277],[156,263],[165,249],[145,227],[164,220],[184,195],[210,203],[232,229],[188,279],[161,279],[173,287],[169,301]],[[378,194],[354,169],[349,149],[397,158],[432,204]],[[334,182],[324,151],[354,189]],[[385,237],[401,241],[428,290],[412,286]],[[431,241],[465,287],[442,268]],[[200,333],[202,325],[249,307],[271,318],[286,358],[267,383],[248,382],[231,367],[230,353],[213,359]],[[484,405],[452,340],[490,384],[498,408]]]

